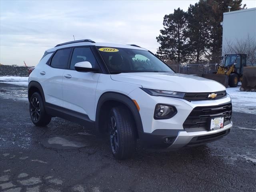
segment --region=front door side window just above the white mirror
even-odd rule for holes
[[[75,69],[75,64],[83,61],[90,62],[92,64],[92,68],[98,68],[98,63],[89,47],[74,48],[70,69]]]

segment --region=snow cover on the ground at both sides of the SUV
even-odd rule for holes
[[[1,76],[0,82],[28,86],[28,77]],[[232,99],[233,111],[256,114],[256,92],[240,92],[239,88],[227,88]]]

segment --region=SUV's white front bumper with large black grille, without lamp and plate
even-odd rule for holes
[[[140,106],[143,132],[139,133],[139,138],[150,148],[175,149],[200,145],[218,140],[232,128],[229,95],[216,100],[189,102],[179,98],[150,96],[138,88],[128,96]],[[154,108],[159,103],[175,106],[177,114],[169,119],[154,119]],[[224,116],[224,127],[209,131],[210,118],[218,116]]]

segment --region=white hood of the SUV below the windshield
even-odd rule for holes
[[[217,92],[226,88],[210,79],[179,73],[120,73],[112,80],[141,85],[143,88],[178,92]]]

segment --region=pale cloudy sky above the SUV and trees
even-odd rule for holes
[[[156,53],[164,15],[198,0],[0,1],[0,63],[38,64],[44,51],[80,39],[137,44]],[[256,0],[244,0],[247,8]]]

